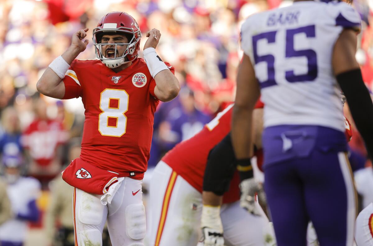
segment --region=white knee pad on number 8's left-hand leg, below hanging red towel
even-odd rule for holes
[[[80,199],[79,221],[87,225],[100,225],[104,212],[104,205],[101,204],[100,198],[87,192],[83,192]]]

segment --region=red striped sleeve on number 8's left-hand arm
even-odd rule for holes
[[[62,99],[79,98],[82,96],[82,87],[80,85],[79,78],[74,71],[75,63],[76,60],[72,62],[68,71],[66,71],[65,78],[62,80],[65,84],[65,95]]]

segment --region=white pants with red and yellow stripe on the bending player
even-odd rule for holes
[[[150,181],[149,205],[149,246],[197,245],[201,236],[202,194],[162,161]],[[264,212],[261,217],[254,216],[239,207],[237,201],[223,205],[220,216],[225,245],[274,245],[273,229]]]

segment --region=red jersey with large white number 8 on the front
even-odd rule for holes
[[[159,103],[145,61],[136,58],[115,73],[100,60],[74,60],[63,82],[63,99],[80,96],[85,108],[80,158],[104,170],[139,172],[131,178],[142,179]]]

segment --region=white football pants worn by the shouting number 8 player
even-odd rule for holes
[[[124,178],[111,204],[101,195],[74,188],[75,246],[102,246],[105,222],[113,246],[143,246],[146,233],[141,180]]]

